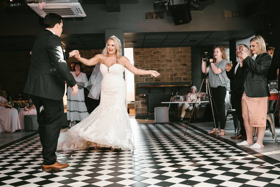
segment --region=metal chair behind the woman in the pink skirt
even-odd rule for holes
[[[278,142],[277,141],[277,136],[276,136],[276,131],[275,131],[275,124],[274,124],[274,116],[278,116],[278,114],[275,114],[276,113],[276,108],[277,108],[277,105],[278,105],[278,100],[279,100],[279,95],[280,95],[280,92],[279,92],[279,89],[276,88],[276,87],[271,87],[269,86],[269,89],[276,89],[278,91],[278,95],[277,95],[277,100],[276,100],[276,107],[274,110],[268,110],[268,103],[269,103],[269,99],[267,101],[267,116],[266,116],[266,120],[269,122],[269,128],[270,128],[270,131],[272,133],[272,138],[275,138],[275,142]],[[254,127],[253,129],[253,141],[255,140],[255,136],[257,134],[257,128]]]

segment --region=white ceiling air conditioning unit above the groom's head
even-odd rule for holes
[[[47,6],[42,10],[39,9],[38,3],[30,3],[27,5],[42,18],[45,18],[45,15],[48,13],[56,13],[63,18],[87,16],[80,3],[46,3]]]

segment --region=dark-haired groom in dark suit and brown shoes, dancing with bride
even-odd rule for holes
[[[66,59],[79,54],[78,50],[64,53],[61,46],[62,17],[49,13],[44,18],[46,30],[38,35],[31,56],[31,65],[24,88],[30,94],[37,110],[40,141],[43,147],[42,170],[62,169],[68,164],[56,160],[55,151],[64,113],[63,96],[65,81],[72,87],[73,95],[78,86],[66,64]],[[40,107],[44,110],[40,113]]]

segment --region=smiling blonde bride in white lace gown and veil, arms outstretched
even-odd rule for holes
[[[158,77],[160,73],[154,70],[137,69],[121,54],[120,40],[111,36],[101,54],[97,54],[89,60],[81,58],[80,54],[75,56],[85,65],[96,65],[97,68],[100,68],[103,76],[102,79],[99,71],[97,72],[102,79],[100,104],[89,117],[69,129],[68,138],[58,144],[57,150],[81,150],[89,147],[108,147],[122,150],[135,148],[125,105],[126,89],[123,72],[127,68],[135,75],[151,75],[151,77]],[[91,81],[91,79],[97,81]],[[100,82],[98,80],[101,79],[94,78],[92,74],[90,82],[94,84]],[[93,98],[98,99],[99,93],[99,85],[90,89]]]

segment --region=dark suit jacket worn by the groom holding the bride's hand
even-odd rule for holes
[[[65,81],[75,86],[76,81],[66,64],[69,53],[61,47],[60,37],[49,30],[36,39],[24,93],[43,98],[60,100],[64,96]]]

